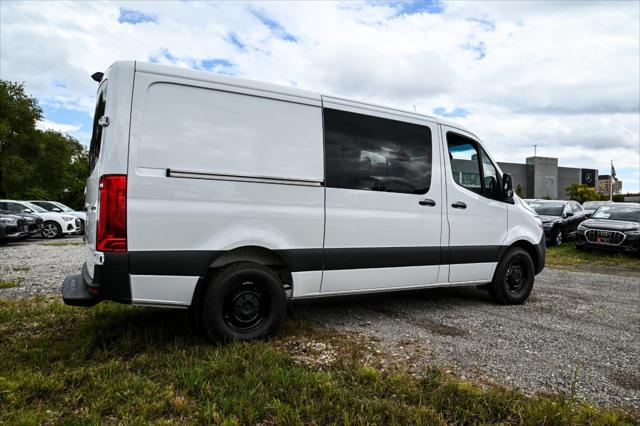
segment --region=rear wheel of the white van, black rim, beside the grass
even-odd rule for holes
[[[287,312],[278,275],[251,262],[229,265],[204,292],[202,325],[213,340],[256,340],[272,335]]]

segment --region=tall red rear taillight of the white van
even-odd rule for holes
[[[100,178],[96,250],[127,251],[127,176]]]

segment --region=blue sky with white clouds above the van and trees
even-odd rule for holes
[[[499,161],[640,191],[640,1],[0,2],[0,78],[88,143],[96,83],[133,59],[447,117]]]

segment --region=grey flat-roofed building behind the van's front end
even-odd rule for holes
[[[523,198],[567,199],[572,183],[597,188],[598,170],[558,167],[553,157],[528,157],[526,164],[498,162],[503,172],[513,177],[513,188],[522,188]]]

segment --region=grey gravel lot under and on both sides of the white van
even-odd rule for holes
[[[0,298],[57,293],[80,271],[82,239],[53,243],[0,247],[0,279],[20,282]],[[571,393],[575,382],[579,398],[640,408],[640,277],[546,269],[523,306],[450,288],[299,301],[294,309],[369,336],[390,363],[416,371],[436,364],[528,393]]]

